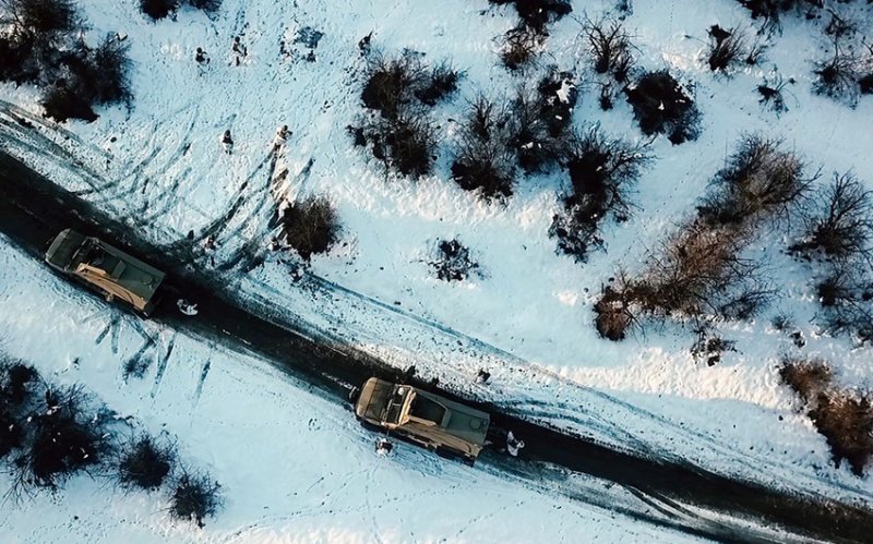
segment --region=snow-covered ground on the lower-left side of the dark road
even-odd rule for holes
[[[226,497],[201,530],[170,520],[166,492],[128,494],[108,477],[75,476],[55,495],[2,503],[4,543],[691,540],[417,448],[383,457],[348,410],[262,361],[140,324],[2,237],[0,267],[0,350],[50,382],[86,384],[153,435],[168,433],[181,460],[211,472]],[[125,382],[122,362],[143,331],[159,338],[158,351],[174,342],[172,354],[163,372],[155,361]]]

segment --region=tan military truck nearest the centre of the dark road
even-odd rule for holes
[[[366,426],[473,464],[486,444],[490,418],[439,395],[372,377],[355,400],[355,415]]]

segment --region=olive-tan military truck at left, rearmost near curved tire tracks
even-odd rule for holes
[[[120,300],[144,316],[155,310],[165,276],[123,251],[72,229],[55,237],[46,252],[46,263],[107,301]]]

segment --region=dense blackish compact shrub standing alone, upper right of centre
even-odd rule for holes
[[[648,72],[624,93],[644,134],[667,134],[677,145],[697,137],[697,107],[668,71]]]

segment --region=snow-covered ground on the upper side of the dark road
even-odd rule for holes
[[[450,119],[458,119],[465,99],[477,92],[500,97],[522,81],[498,64],[500,36],[516,23],[512,9],[489,8],[486,0],[225,0],[212,20],[182,10],[177,21],[152,23],[133,0],[81,3],[94,37],[129,36],[135,100],[130,112],[103,110],[92,124],[5,126],[5,134],[19,131],[19,144],[3,145],[52,179],[165,243],[190,230],[200,235],[238,206],[218,230],[220,264],[242,244],[266,245],[275,206],[270,182],[287,169],[280,191],[289,198],[326,195],[343,221],[343,242],[313,259],[321,279],[307,287],[290,280],[287,257],[276,254],[251,273],[231,270],[228,282],[264,311],[300,317],[397,366],[416,364],[457,390],[619,447],[870,500],[870,476],[833,467],[824,438],[778,382],[780,355],[796,350],[769,326],[778,313],[793,317],[808,340],[803,352],[828,359],[842,385],[869,387],[873,378],[869,347],[817,334],[810,271],[779,253],[786,240],[772,237],[756,247],[770,259],[780,299],[754,323],[719,327],[738,351],[717,366],[693,361],[687,330],[649,327],[645,337],[613,343],[598,338],[591,323],[600,286],[619,265],[638,268],[646,249],[693,211],[743,133],[784,138],[811,171],[822,167],[825,179],[853,170],[873,186],[873,100],[849,109],[810,92],[811,62],[826,55],[821,23],[786,17],[762,67],[726,77],[708,71],[701,51],[713,24],[754,33],[738,2],[633,2],[626,25],[639,48],[638,64],[669,68],[692,85],[703,130],[696,142],[681,146],[665,138],[653,143],[656,159],[635,197],[639,209],[621,226],[606,225],[608,251],[578,265],[557,255],[547,235],[566,179],[523,180],[505,206],[485,204],[447,181],[455,130]],[[611,4],[576,1],[575,15],[587,10],[598,17]],[[315,62],[294,44],[307,26],[324,33]],[[585,86],[579,29],[574,17],[553,25],[543,60],[581,75],[574,123],[597,122],[611,134],[642,138],[626,104],[618,100],[614,110],[602,112],[596,92]],[[361,110],[364,61],[357,44],[370,32],[373,46],[386,55],[410,48],[433,62],[451,59],[465,72],[458,96],[436,109],[445,144],[432,178],[385,180],[346,134]],[[236,67],[230,47],[238,35],[248,57]],[[280,52],[283,41],[289,55]],[[212,57],[202,72],[193,59],[198,47]],[[787,87],[789,111],[779,118],[757,104],[755,93],[775,70],[797,81]],[[33,89],[4,85],[0,96],[39,111]],[[294,134],[271,165],[283,124]],[[236,142],[232,155],[219,144],[226,129]],[[68,154],[94,176],[82,176],[81,165],[80,174],[71,174]],[[427,261],[442,238],[468,245],[483,277],[438,281]],[[206,258],[198,264],[210,266]],[[489,387],[470,383],[482,366],[492,374]]]

